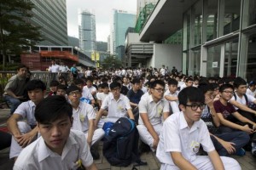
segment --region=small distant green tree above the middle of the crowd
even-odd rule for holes
[[[100,62],[100,65],[102,65],[102,69],[120,68],[122,66],[122,61],[120,59],[115,58],[114,55],[110,55],[103,59]]]

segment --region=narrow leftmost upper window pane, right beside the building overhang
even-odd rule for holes
[[[202,26],[202,1],[199,1],[192,7],[192,14],[195,15],[194,20],[194,46],[201,44],[201,26]]]

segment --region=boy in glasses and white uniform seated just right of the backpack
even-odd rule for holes
[[[156,80],[151,82],[150,95],[139,102],[138,133],[143,143],[148,144],[151,150],[156,150],[162,123],[169,116],[169,104],[163,98],[165,82]]]

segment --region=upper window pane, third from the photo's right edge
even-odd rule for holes
[[[207,17],[207,41],[217,37],[218,26],[218,1],[206,0],[206,14]]]

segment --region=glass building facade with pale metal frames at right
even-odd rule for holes
[[[256,75],[256,0],[199,0],[183,13],[183,73]]]

